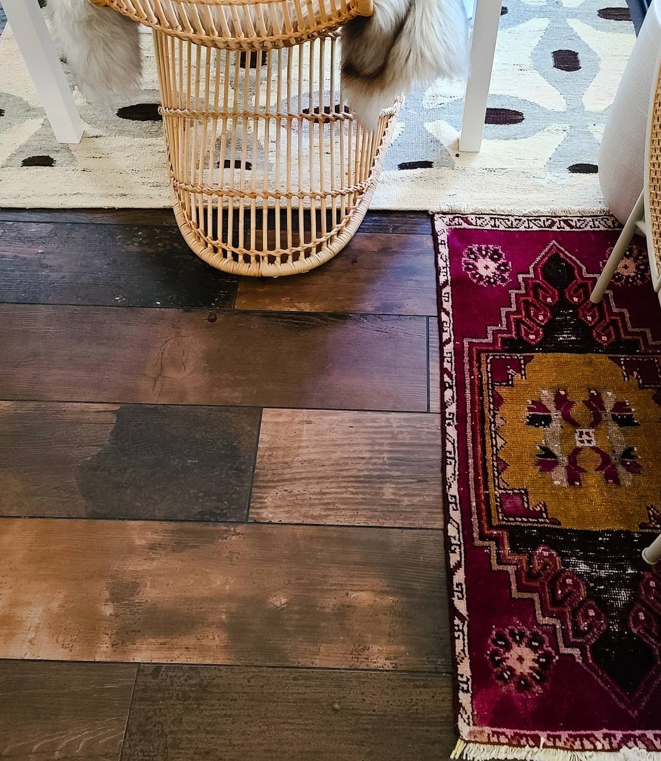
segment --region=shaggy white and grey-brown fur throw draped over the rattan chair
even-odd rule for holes
[[[368,129],[415,84],[466,73],[468,24],[462,0],[373,0],[369,18],[342,30],[342,83]],[[60,52],[88,100],[108,105],[138,88],[138,25],[90,0],[48,0]]]

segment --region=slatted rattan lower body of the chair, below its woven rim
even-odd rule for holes
[[[154,30],[176,219],[192,250],[237,275],[329,260],[358,229],[400,101],[377,129],[345,105],[337,34],[245,54]]]

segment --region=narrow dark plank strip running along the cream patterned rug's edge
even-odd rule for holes
[[[75,222],[77,224],[168,224],[172,209],[0,209],[0,221]],[[431,217],[423,212],[368,212],[361,232],[389,235],[431,234]]]

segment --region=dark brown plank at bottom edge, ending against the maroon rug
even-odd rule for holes
[[[439,761],[444,674],[141,666],[123,761]]]

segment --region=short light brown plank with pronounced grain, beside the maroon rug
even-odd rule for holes
[[[436,415],[265,409],[249,516],[442,528],[440,458]]]

